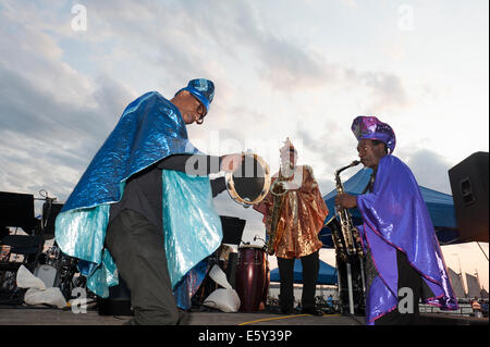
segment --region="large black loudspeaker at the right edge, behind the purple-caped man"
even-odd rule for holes
[[[489,241],[488,161],[488,152],[476,152],[448,171],[460,241]]]

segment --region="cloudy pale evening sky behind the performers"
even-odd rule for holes
[[[448,170],[489,151],[488,7],[0,0],[0,190],[46,189],[65,201],[132,100],[151,90],[170,99],[204,77],[215,100],[187,132],[209,154],[249,149],[274,172],[290,137],[327,195],[334,171],[357,159],[353,119],[376,115],[394,128],[394,154],[419,185],[451,194]],[[264,235],[260,214],[226,193],[215,202],[247,220],[244,240]],[[478,245],[442,250],[449,267],[478,272],[488,289]],[[329,263],[332,255],[321,250]]]

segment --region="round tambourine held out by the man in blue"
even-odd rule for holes
[[[258,154],[242,153],[242,164],[224,178],[230,197],[238,205],[248,208],[259,203],[269,193],[270,171],[267,162]]]

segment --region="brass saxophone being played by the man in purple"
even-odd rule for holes
[[[360,161],[358,160],[354,160],[351,164],[348,164],[347,166],[341,168],[338,171],[335,171],[335,187],[336,187],[336,193],[340,194],[344,194],[344,186],[342,184],[342,181],[340,179],[340,173],[348,168],[358,165],[360,163]],[[336,207],[335,207],[336,209]],[[351,212],[348,212],[348,209],[336,209],[336,214],[339,214],[339,219],[340,219],[340,223],[341,223],[341,234],[342,234],[342,238],[344,240],[345,247],[342,245],[340,246],[338,249],[338,251],[341,252],[346,252],[344,256],[352,256],[352,255],[357,255],[359,257],[363,257],[363,248],[359,245],[359,232],[357,231],[357,228],[354,226],[353,222],[352,222],[352,215]],[[338,246],[338,244],[340,243],[339,235],[335,235],[336,237],[334,237],[333,233],[332,233],[332,238],[335,245],[335,248]],[[335,239],[336,238],[336,239]]]

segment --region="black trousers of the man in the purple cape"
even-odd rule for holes
[[[418,302],[424,288],[422,278],[411,267],[405,253],[400,250],[396,250],[396,263],[399,268],[399,307],[377,319],[375,325],[414,325],[420,323]],[[413,295],[412,298],[411,295]]]

